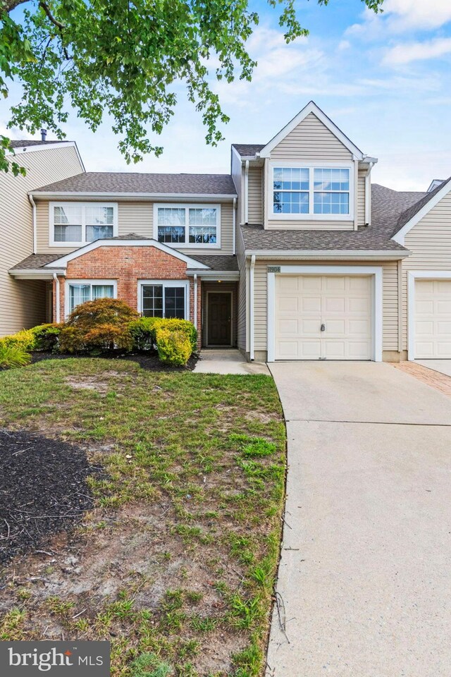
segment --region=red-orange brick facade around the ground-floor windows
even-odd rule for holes
[[[60,317],[65,317],[65,289],[68,280],[116,280],[118,298],[137,310],[139,280],[190,280],[190,319],[194,319],[194,281],[186,274],[186,263],[156,247],[98,247],[68,262],[66,278],[60,281]],[[56,283],[54,283],[55,287]],[[201,283],[197,286],[197,330],[201,341]],[[54,288],[54,317],[56,290]]]

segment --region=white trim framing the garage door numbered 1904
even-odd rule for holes
[[[372,276],[373,361],[382,362],[383,350],[383,269],[370,266],[280,266],[280,273],[268,273],[268,362],[276,361],[276,275],[357,275]]]

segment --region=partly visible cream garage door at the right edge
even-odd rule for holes
[[[451,358],[451,280],[415,282],[415,357]]]

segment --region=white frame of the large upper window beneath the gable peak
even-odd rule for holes
[[[350,170],[350,213],[349,214],[279,214],[274,212],[274,201],[273,201],[273,176],[274,168],[282,167],[283,169],[290,169],[293,167],[295,169],[303,168],[309,169],[310,171],[310,181],[309,181],[309,209],[314,208],[314,193],[319,192],[314,190],[314,169],[349,169]],[[354,220],[354,163],[347,161],[271,161],[269,163],[269,181],[268,181],[268,214],[271,221],[353,221]],[[302,191],[301,191],[302,192]],[[307,191],[304,191],[307,193]],[[331,193],[348,193],[348,191],[326,191]]]

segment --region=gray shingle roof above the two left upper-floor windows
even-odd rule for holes
[[[185,195],[236,195],[230,174],[152,174],[87,171],[49,183],[33,193],[154,193]]]

